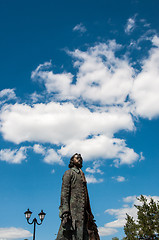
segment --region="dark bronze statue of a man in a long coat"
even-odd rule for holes
[[[74,154],[69,170],[64,173],[60,218],[61,225],[56,240],[99,240],[97,225],[91,211],[87,182],[82,168],[83,159]]]

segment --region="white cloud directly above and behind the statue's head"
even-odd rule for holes
[[[124,140],[112,139],[104,135],[82,141],[76,140],[59,150],[60,154],[64,156],[71,156],[75,151],[82,153],[86,161],[98,158],[115,159],[116,166],[132,164],[139,158],[133,149],[126,146]]]

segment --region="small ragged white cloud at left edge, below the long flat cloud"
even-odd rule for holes
[[[21,147],[19,149],[1,149],[0,160],[8,163],[19,164],[26,159],[27,147]]]

